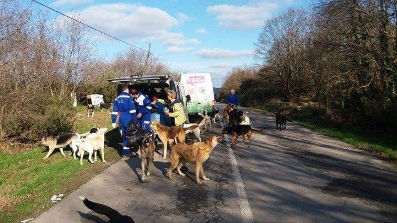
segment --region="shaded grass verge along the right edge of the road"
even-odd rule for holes
[[[275,111],[275,106],[271,104],[262,104],[254,108],[260,109],[266,115],[273,115]],[[292,108],[288,110],[287,116],[290,118],[295,117],[293,118],[294,124],[339,139],[358,149],[369,151],[394,162],[397,161],[397,138],[394,134],[366,131],[358,127],[344,127],[328,121],[321,122],[318,118],[312,119],[312,115],[309,113],[305,114],[309,109],[310,107],[308,106]]]

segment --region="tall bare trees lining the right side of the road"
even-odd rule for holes
[[[320,108],[341,111],[341,122],[396,129],[397,1],[290,8],[265,22],[255,46],[263,65],[237,88],[248,104],[309,96]],[[224,94],[239,72],[225,79]]]

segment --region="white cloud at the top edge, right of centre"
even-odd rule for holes
[[[253,0],[244,5],[217,4],[207,7],[216,15],[218,25],[227,29],[252,29],[262,27],[264,21],[279,7],[279,2]]]

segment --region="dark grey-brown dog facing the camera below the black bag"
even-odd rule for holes
[[[145,134],[142,138],[142,144],[140,146],[140,165],[142,167],[142,176],[140,177],[140,182],[145,182],[145,166],[146,166],[146,176],[150,175],[150,171],[152,169],[152,162],[154,156],[154,137],[155,134],[152,136],[150,133]]]

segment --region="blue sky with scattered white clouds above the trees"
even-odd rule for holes
[[[29,0],[24,0],[29,1]],[[254,42],[265,21],[311,0],[38,0],[147,50],[172,70],[210,73],[220,87],[236,66],[258,64]],[[34,10],[46,10],[33,3]],[[51,16],[55,12],[49,12]],[[93,32],[98,57],[112,59],[128,45]]]

